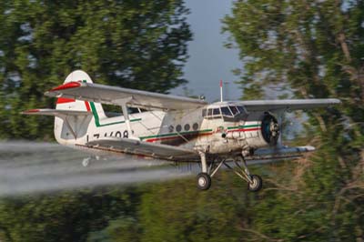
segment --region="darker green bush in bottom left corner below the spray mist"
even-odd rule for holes
[[[2,241],[86,241],[88,232],[106,227],[116,217],[134,215],[136,192],[65,192],[2,199]]]

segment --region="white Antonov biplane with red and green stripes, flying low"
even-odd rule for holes
[[[211,177],[224,165],[248,182],[248,190],[258,191],[262,179],[250,174],[247,160],[254,164],[261,159],[293,158],[315,149],[283,146],[279,115],[340,103],[331,98],[208,104],[195,98],[93,84],[81,70],[45,95],[57,97],[56,109],[32,109],[24,114],[55,116],[60,144],[197,162],[201,190],[211,186]],[[120,106],[122,115],[108,116],[102,104]]]

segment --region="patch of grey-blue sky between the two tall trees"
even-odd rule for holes
[[[220,99],[219,81],[223,80],[224,99],[238,100],[242,91],[234,81],[232,70],[242,66],[237,49],[227,49],[227,34],[221,34],[221,19],[230,15],[231,0],[186,0],[190,9],[187,21],[193,33],[188,44],[189,58],[185,66],[184,78],[188,91],[193,95],[204,95],[208,102]],[[174,95],[184,95],[183,86],[171,91]]]

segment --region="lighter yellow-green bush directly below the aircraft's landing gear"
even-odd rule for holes
[[[191,179],[178,180],[152,186],[143,194],[141,241],[238,241],[237,195],[227,184],[207,193],[194,185]]]

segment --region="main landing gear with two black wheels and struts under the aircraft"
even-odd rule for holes
[[[210,162],[209,166],[207,167],[206,153],[200,152],[199,155],[201,156],[202,172],[197,175],[198,189],[207,190],[209,187],[211,187],[211,177],[217,173],[217,170],[222,165],[227,166],[227,168],[232,170],[237,176],[247,181],[249,191],[258,192],[258,190],[261,189],[263,185],[261,177],[250,174],[244,156],[238,156],[236,159],[234,159],[234,163],[236,165],[235,167],[229,166],[226,162],[226,159],[221,159],[218,161],[214,160]]]

